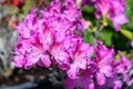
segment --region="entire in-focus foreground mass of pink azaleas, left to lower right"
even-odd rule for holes
[[[66,89],[120,89],[117,75],[122,73],[129,83],[131,62],[122,55],[114,60],[114,49],[108,49],[101,41],[98,46],[85,43],[82,37],[88,26],[71,0],[55,0],[44,10],[33,9],[17,27],[16,66],[58,66],[68,75]]]

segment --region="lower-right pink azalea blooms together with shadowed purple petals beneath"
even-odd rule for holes
[[[101,41],[94,47],[95,57],[89,61],[85,70],[80,70],[78,78],[69,77],[65,80],[66,89],[81,87],[83,89],[121,89],[122,82],[117,75],[123,75],[124,81],[129,83],[132,63],[120,52],[120,59],[114,59],[114,49],[108,49]],[[74,73],[74,72],[73,72]]]

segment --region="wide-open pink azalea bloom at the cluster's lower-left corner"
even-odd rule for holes
[[[50,58],[42,49],[42,43],[39,41],[38,36],[32,37],[32,39],[19,40],[16,50],[18,51],[16,51],[17,56],[13,58],[13,61],[17,67],[30,69],[39,61],[44,67],[50,67],[51,65]]]

